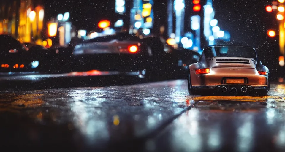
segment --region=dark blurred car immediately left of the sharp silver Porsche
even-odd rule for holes
[[[151,49],[152,80],[158,79],[187,79],[188,66],[199,60],[200,54],[188,49],[174,49],[165,45],[159,37],[143,39]]]

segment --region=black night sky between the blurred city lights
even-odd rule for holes
[[[128,1],[126,0],[126,4]],[[167,0],[155,0],[155,26],[166,25]],[[185,0],[187,4],[192,0]],[[117,20],[115,13],[115,0],[43,0],[46,19],[57,16],[58,13],[70,12],[72,24],[77,28],[94,30],[101,19]],[[213,0],[216,11],[215,18],[219,21],[221,30],[229,31],[231,41],[241,41],[257,48],[265,62],[268,56],[278,54],[278,38],[267,37],[268,29],[276,29],[275,15],[267,13],[265,6],[269,0]],[[187,6],[186,4],[186,6]],[[186,9],[191,13],[191,9]],[[270,64],[270,63],[266,63]]]

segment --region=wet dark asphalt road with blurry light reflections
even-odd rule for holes
[[[189,95],[186,80],[5,89],[0,147],[41,151],[285,151],[285,84],[268,96]]]

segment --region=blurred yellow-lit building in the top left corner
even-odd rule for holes
[[[0,34],[9,34],[22,43],[42,45],[44,7],[40,0],[4,0],[0,2]]]

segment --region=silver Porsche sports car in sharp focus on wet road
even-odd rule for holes
[[[250,46],[206,47],[197,63],[189,66],[188,90],[212,89],[230,94],[262,94],[270,89],[270,73]]]

